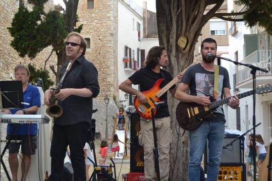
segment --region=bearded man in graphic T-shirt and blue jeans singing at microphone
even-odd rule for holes
[[[182,102],[194,102],[200,105],[208,105],[210,96],[216,100],[231,97],[230,81],[227,69],[219,67],[219,73],[215,78],[218,80],[217,88],[214,86],[214,57],[208,53],[216,54],[217,44],[212,38],[206,38],[201,43],[202,62],[190,67],[184,74],[178,86],[175,97]],[[191,95],[185,93],[189,87]],[[216,95],[217,96],[214,96]],[[237,96],[231,97],[228,103],[236,109],[239,106]],[[208,172],[207,180],[215,181],[219,173],[220,158],[224,143],[225,115],[223,107],[219,106],[212,114],[203,118],[203,122],[195,130],[189,131],[190,138],[190,161],[188,166],[188,180],[199,181],[200,164],[206,140],[208,139]]]

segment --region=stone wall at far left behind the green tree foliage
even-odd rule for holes
[[[53,0],[50,0],[45,5],[45,11],[53,8]],[[26,7],[30,7],[26,5]],[[18,64],[28,65],[31,63],[36,68],[43,68],[44,62],[49,56],[52,47],[47,47],[41,51],[35,58],[20,57],[15,49],[10,45],[12,37],[8,31],[8,27],[11,26],[12,19],[15,13],[18,11],[18,0],[3,0],[0,1],[0,80],[11,80],[14,78],[14,68]],[[57,55],[53,53],[46,64],[46,69],[51,73],[49,69],[50,65],[57,65]],[[55,81],[55,76],[51,73],[51,80]]]

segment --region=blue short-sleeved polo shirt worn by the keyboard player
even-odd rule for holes
[[[40,92],[36,86],[27,85],[24,91],[24,102],[29,103],[29,105],[24,105],[24,108],[32,107],[34,105],[40,107]],[[20,109],[10,109],[12,114],[15,114]],[[36,113],[35,113],[36,114]],[[8,124],[7,135],[11,135],[13,130],[13,124]],[[14,135],[36,135],[37,134],[37,124],[22,124],[17,127]]]

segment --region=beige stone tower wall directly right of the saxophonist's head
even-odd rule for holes
[[[118,97],[118,1],[94,0],[94,8],[87,9],[87,0],[80,0],[77,14],[81,34],[90,40],[86,58],[98,70],[98,99]]]

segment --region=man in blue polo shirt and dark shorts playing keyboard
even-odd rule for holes
[[[36,114],[40,107],[40,93],[36,86],[28,84],[30,72],[26,66],[18,65],[15,68],[15,80],[22,81],[24,102],[29,105],[24,105],[24,109],[3,109],[3,114]],[[13,129],[16,129],[13,133]],[[30,163],[31,155],[35,154],[37,148],[37,124],[8,124],[7,139],[22,140],[21,143],[11,143],[9,145],[9,164],[12,173],[12,180],[18,180],[17,172],[19,166],[18,153],[21,146],[23,155],[22,160],[22,178],[26,179]]]

